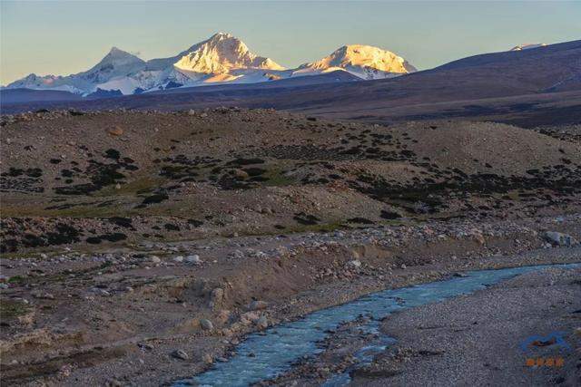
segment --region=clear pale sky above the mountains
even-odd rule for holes
[[[0,0],[0,83],[69,74],[114,45],[172,56],[216,32],[285,66],[370,44],[427,69],[521,43],[581,39],[576,2],[178,2]]]

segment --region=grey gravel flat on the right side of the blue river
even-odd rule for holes
[[[519,258],[532,256],[578,260],[581,249],[529,252]],[[365,329],[367,317],[361,316],[320,343],[322,353],[261,384],[320,385],[333,374],[348,372],[350,385],[365,386],[576,386],[581,382],[580,278],[579,268],[547,268],[473,295],[392,314],[383,320],[381,334],[395,343],[363,365],[355,354],[375,343],[378,334]]]

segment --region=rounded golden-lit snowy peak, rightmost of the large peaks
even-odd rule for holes
[[[363,79],[379,79],[413,73],[416,68],[395,53],[370,45],[351,44],[340,47],[317,62],[300,65],[293,75],[336,70],[345,70]]]

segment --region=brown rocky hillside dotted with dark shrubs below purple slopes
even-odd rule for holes
[[[575,207],[581,187],[578,141],[503,124],[385,127],[236,108],[3,120],[5,252],[510,218]]]

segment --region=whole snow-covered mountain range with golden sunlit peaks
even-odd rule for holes
[[[182,86],[268,82],[345,71],[358,79],[384,79],[413,73],[415,67],[395,53],[369,45],[345,45],[319,61],[285,69],[251,53],[231,34],[214,34],[170,58],[143,61],[113,47],[91,69],[68,76],[30,74],[7,89],[72,92],[83,96],[139,94]]]

